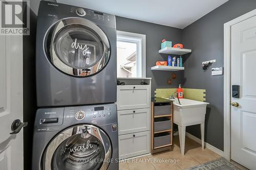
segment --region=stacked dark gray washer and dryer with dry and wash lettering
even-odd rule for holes
[[[33,170],[118,169],[115,16],[41,1]]]

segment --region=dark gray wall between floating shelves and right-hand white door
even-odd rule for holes
[[[206,101],[210,105],[205,120],[205,141],[220,150],[223,150],[223,76],[211,76],[211,69],[204,71],[201,64],[216,59],[210,68],[223,66],[224,23],[255,8],[255,0],[229,0],[182,32],[182,42],[193,51],[184,63],[184,87],[206,89]],[[201,137],[199,126],[188,127],[187,131]]]

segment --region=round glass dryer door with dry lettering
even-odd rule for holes
[[[66,18],[56,22],[45,38],[50,62],[65,74],[85,77],[104,68],[110,58],[110,43],[90,20]]]

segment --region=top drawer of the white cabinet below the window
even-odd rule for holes
[[[117,86],[117,110],[150,107],[149,85]]]

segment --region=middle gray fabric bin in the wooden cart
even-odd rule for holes
[[[172,129],[172,120],[167,117],[155,118],[154,122],[154,132],[165,131]]]

